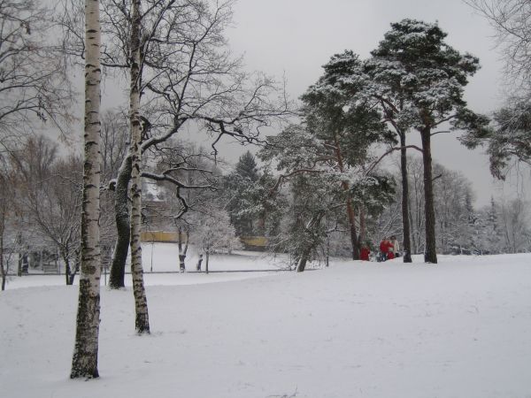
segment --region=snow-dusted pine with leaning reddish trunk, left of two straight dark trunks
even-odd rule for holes
[[[334,162],[338,172],[359,167],[368,161],[368,150],[375,142],[389,141],[389,131],[381,113],[365,95],[367,79],[364,64],[352,51],[331,57],[325,73],[301,99],[308,131],[323,142],[323,156]],[[355,195],[348,178],[341,182],[346,197],[352,258],[359,259],[360,242],[357,218],[363,213],[352,202]],[[358,217],[356,212],[358,211]],[[361,234],[361,231],[360,231]]]

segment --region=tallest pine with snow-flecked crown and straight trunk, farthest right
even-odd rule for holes
[[[375,59],[392,62],[389,73],[399,75],[400,80],[391,81],[404,92],[402,113],[420,134],[427,263],[437,263],[431,137],[435,128],[447,121],[469,129],[482,126],[484,121],[466,108],[463,98],[463,88],[468,77],[478,70],[479,60],[451,48],[444,42],[446,35],[436,24],[403,19],[391,24],[391,30],[372,52]]]

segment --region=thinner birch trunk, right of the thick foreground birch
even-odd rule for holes
[[[132,3],[131,26],[131,87],[129,93],[129,118],[131,125],[131,273],[135,295],[135,328],[137,333],[150,333],[148,301],[143,284],[142,246],[142,126],[140,119],[140,0]]]

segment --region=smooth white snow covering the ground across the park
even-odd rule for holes
[[[176,253],[155,245],[154,271],[176,269]],[[0,294],[0,396],[531,397],[531,255],[439,259],[148,274],[149,336],[135,334],[131,288],[103,287],[101,377],[87,381],[68,379],[77,287],[13,278]],[[211,264],[274,267],[242,252]]]

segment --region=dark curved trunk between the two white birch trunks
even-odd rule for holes
[[[111,272],[109,275],[109,287],[112,289],[126,286],[126,261],[131,233],[129,196],[127,194],[129,181],[131,180],[131,169],[131,157],[127,156],[119,168],[116,191],[114,193],[114,212],[118,236],[112,252]]]

